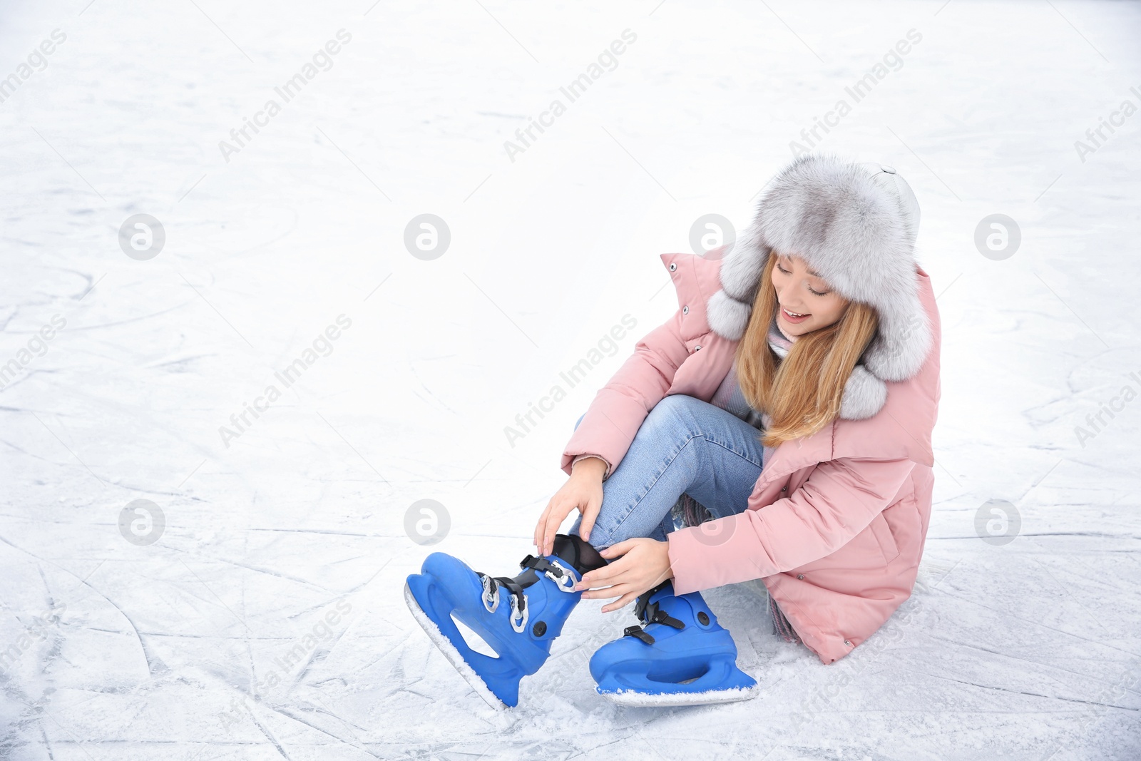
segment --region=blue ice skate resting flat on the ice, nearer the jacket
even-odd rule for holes
[[[638,598],[641,626],[628,626],[590,659],[598,694],[622,705],[701,705],[756,696],[737,667],[737,646],[697,592],[665,582]]]

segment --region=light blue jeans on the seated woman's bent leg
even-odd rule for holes
[[[760,430],[718,406],[666,396],[602,483],[602,508],[588,541],[598,549],[636,536],[665,541],[682,494],[714,518],[744,512],[761,475],[760,437]],[[578,535],[581,525],[582,516],[569,533]]]

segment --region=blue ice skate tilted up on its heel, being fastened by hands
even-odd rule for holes
[[[515,578],[491,577],[443,552],[428,556],[408,576],[404,599],[416,622],[482,698],[494,707],[519,703],[519,681],[539,671],[582,599],[574,585],[606,560],[577,536],[558,534],[555,552],[527,556]],[[499,657],[476,653],[456,621],[478,634]]]

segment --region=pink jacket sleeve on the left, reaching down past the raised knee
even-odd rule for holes
[[[646,415],[665,397],[673,375],[689,355],[681,334],[682,314],[638,341],[626,359],[598,394],[563,452],[563,470],[580,454],[594,454],[607,463],[607,475],[622,462]]]

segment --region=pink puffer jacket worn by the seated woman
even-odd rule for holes
[[[670,253],[673,318],[638,342],[591,403],[563,454],[599,454],[617,468],[663,397],[709,402],[737,342],[710,330],[705,305],[720,260]],[[675,265],[671,267],[671,265]],[[683,594],[761,578],[801,640],[828,664],[851,653],[911,597],[931,515],[931,430],[939,404],[939,314],[916,268],[932,345],[911,379],[888,383],[883,408],[836,419],[780,444],[763,463],[748,509],[669,535],[673,586]]]

